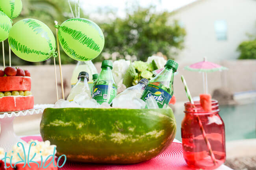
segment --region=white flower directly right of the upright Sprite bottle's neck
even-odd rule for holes
[[[131,63],[130,61],[124,60],[124,59],[116,60],[113,62],[112,74],[117,84],[124,78],[124,75],[130,63]]]

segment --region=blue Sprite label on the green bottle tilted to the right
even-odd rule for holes
[[[156,85],[148,84],[145,88],[145,91],[143,92],[141,99],[146,101],[148,98],[150,98],[150,96],[154,97],[159,108],[166,107],[172,98],[169,92],[161,89]]]

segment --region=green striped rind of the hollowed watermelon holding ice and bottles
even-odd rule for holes
[[[40,132],[69,161],[132,164],[171,145],[176,121],[171,109],[47,108]]]

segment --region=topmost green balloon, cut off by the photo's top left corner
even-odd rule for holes
[[[6,13],[6,15],[11,19],[19,16],[21,10],[21,0],[0,0],[0,11]]]

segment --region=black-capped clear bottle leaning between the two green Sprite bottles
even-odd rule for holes
[[[130,95],[134,96],[135,98],[140,99],[147,84],[148,84],[148,80],[146,78],[143,78],[138,82],[137,85],[128,87],[123,92],[117,94],[117,97],[115,97],[115,98],[119,98],[120,96],[125,95],[125,94],[130,94]]]

